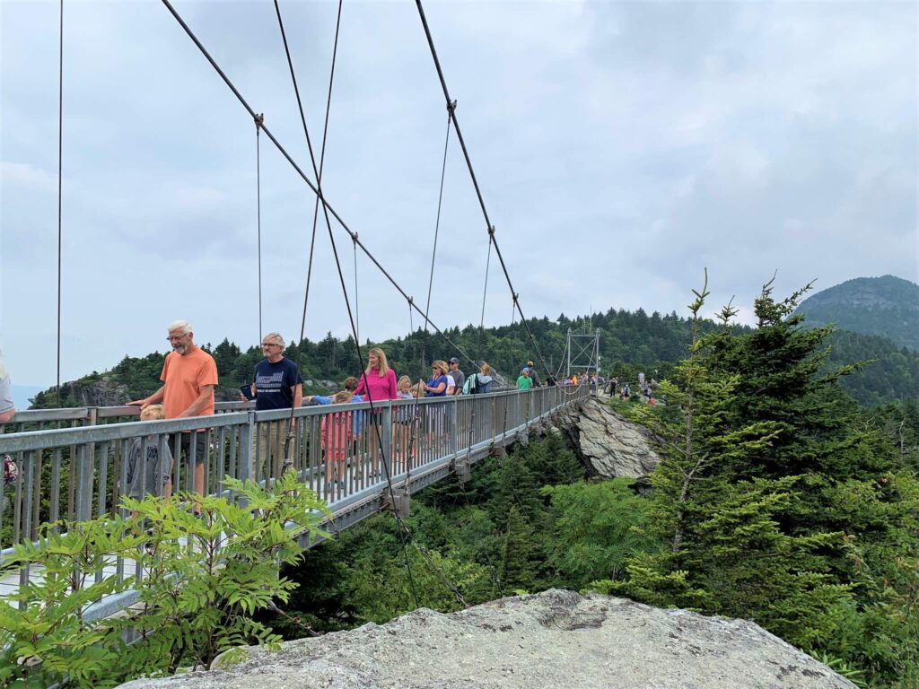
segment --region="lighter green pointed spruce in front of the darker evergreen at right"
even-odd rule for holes
[[[661,384],[667,412],[636,407],[662,455],[651,476],[649,529],[664,548],[634,559],[625,582],[598,587],[652,604],[750,617],[807,645],[849,595],[828,576],[821,555],[840,537],[782,528],[798,499],[799,476],[746,471],[783,428],[773,419],[737,423],[733,410],[752,401],[739,399],[741,376],[720,367],[719,358],[735,337],[727,327],[734,311],[722,311],[720,331],[702,334],[698,313],[707,296],[706,288],[696,292],[688,357],[675,379]]]

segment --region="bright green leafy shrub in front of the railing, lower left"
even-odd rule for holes
[[[127,520],[45,525],[37,543],[17,546],[0,575],[28,566],[43,576],[0,600],[0,685],[112,686],[186,664],[210,668],[240,645],[277,646],[255,613],[288,600],[297,584],[278,567],[301,558],[299,539],[327,536],[318,524],[329,513],[292,471],[270,491],[229,477],[224,485],[237,500],[125,499]],[[125,570],[140,567],[142,580],[104,573],[118,558]],[[122,615],[89,614],[131,589],[136,603]]]

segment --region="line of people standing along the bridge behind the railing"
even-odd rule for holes
[[[165,356],[160,380],[163,385],[141,400],[129,401],[129,405],[139,406],[142,413],[155,409],[158,417],[181,419],[192,416],[207,416],[214,413],[214,393],[217,387],[217,365],[210,354],[195,344],[194,331],[187,321],[176,321],[166,327],[167,340],[172,351]],[[413,382],[412,378],[397,378],[390,367],[386,353],[380,347],[369,351],[368,365],[359,376],[345,379],[343,390],[331,396],[303,395],[303,378],[297,364],[284,356],[285,342],[279,333],[267,333],[262,338],[264,358],[255,366],[252,383],[241,389],[241,399],[255,401],[255,410],[298,408],[307,404],[346,405],[369,401],[384,402],[390,400],[412,400],[420,398],[448,398],[458,395],[483,394],[493,390],[495,380],[492,367],[482,362],[478,370],[469,376],[460,369],[459,358],[453,356],[436,360],[431,364],[429,378]],[[521,369],[516,380],[517,390],[531,390],[539,387],[539,375],[532,361]],[[397,414],[398,415],[398,414]],[[402,416],[405,416],[403,413]],[[448,432],[446,416],[437,413],[429,414],[432,419],[430,429],[432,437],[440,437]],[[257,425],[257,437],[254,439],[255,452],[259,457],[259,474],[267,466],[272,476],[278,476],[283,470],[286,457],[297,453],[295,419],[260,423]],[[412,433],[410,420],[398,418],[399,427],[395,429],[397,447],[407,452],[407,443]],[[367,428],[365,429],[365,426]],[[380,474],[378,457],[380,447],[380,422],[377,414],[335,412],[323,417],[320,440],[326,461],[326,482],[341,481],[340,465],[344,464],[348,448],[355,438],[363,437],[367,431],[370,472]],[[434,442],[434,441],[432,441]],[[290,446],[290,444],[293,446]],[[162,477],[163,466],[173,457],[185,458],[189,466],[194,467],[194,489],[204,491],[204,463],[208,454],[208,434],[206,429],[187,431],[171,435],[167,452],[169,457],[159,457],[156,444],[146,444],[136,448],[137,456],[146,457],[156,462],[156,469],[138,468],[138,476],[143,479]],[[337,468],[336,468],[337,467]],[[151,473],[153,471],[153,473]],[[168,473],[166,469],[165,473]],[[169,490],[162,480],[153,481],[159,486],[158,491]],[[148,484],[149,485],[149,484]]]

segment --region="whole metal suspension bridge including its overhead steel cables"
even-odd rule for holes
[[[201,56],[210,63],[217,76],[232,91],[240,106],[243,107],[249,122],[255,124],[255,166],[256,166],[256,204],[257,204],[257,242],[258,242],[258,330],[262,330],[262,261],[261,261],[261,142],[263,135],[288,162],[291,170],[315,196],[312,213],[312,232],[308,237],[309,259],[306,265],[306,288],[303,296],[299,343],[306,335],[308,306],[312,282],[312,266],[316,248],[316,236],[320,219],[327,231],[329,246],[335,260],[340,288],[345,299],[348,323],[352,341],[356,347],[357,359],[362,370],[367,369],[364,353],[361,351],[358,333],[357,311],[357,254],[360,252],[373,269],[379,270],[395,289],[398,299],[407,304],[410,314],[410,327],[414,331],[414,315],[424,323],[425,330],[433,329],[443,337],[448,351],[462,356],[478,369],[480,361],[474,359],[453,342],[444,329],[437,326],[430,317],[431,288],[435,275],[437,257],[437,238],[440,228],[441,207],[444,196],[444,170],[446,170],[449,141],[455,138],[459,143],[463,160],[469,171],[475,196],[482,210],[483,229],[487,236],[488,257],[485,264],[484,285],[482,289],[482,314],[480,332],[484,330],[485,301],[488,296],[488,277],[494,254],[505,277],[513,305],[513,319],[519,318],[522,332],[528,336],[528,347],[532,357],[539,360],[539,367],[547,374],[551,373],[545,359],[539,351],[539,344],[530,330],[526,316],[521,307],[519,292],[511,280],[497,239],[497,232],[489,217],[482,189],[475,175],[469,148],[463,139],[457,118],[457,101],[449,93],[445,74],[437,57],[437,50],[428,25],[421,0],[415,0],[418,17],[424,31],[425,40],[430,49],[437,78],[441,86],[447,108],[447,136],[444,143],[444,163],[441,170],[440,188],[437,202],[437,219],[434,223],[434,242],[431,256],[431,271],[427,285],[427,299],[422,308],[414,297],[391,275],[377,257],[369,250],[367,243],[359,238],[342,215],[334,208],[323,193],[323,164],[326,158],[326,136],[329,128],[330,110],[335,84],[335,60],[338,50],[339,31],[341,29],[342,1],[338,3],[338,14],[335,23],[335,43],[329,71],[328,93],[323,117],[322,140],[314,146],[310,128],[301,101],[300,87],[290,53],[288,34],[285,30],[281,8],[274,0],[274,10],[278,19],[279,37],[283,42],[290,81],[296,99],[302,130],[309,153],[308,170],[294,159],[289,150],[278,140],[266,124],[264,113],[256,112],[233,84],[230,76],[213,58],[210,51],[199,40],[194,30],[181,17],[169,0],[161,0],[177,25],[189,40],[198,48]],[[63,64],[64,64],[64,4],[60,3],[60,94],[59,94],[59,183],[62,169],[62,122],[63,122]],[[318,148],[318,154],[316,149]],[[333,220],[335,223],[333,223]],[[342,270],[342,256],[335,241],[335,227],[346,232],[355,256],[355,285],[349,294]],[[62,267],[62,232],[63,213],[61,205],[61,187],[58,189],[58,343],[57,343],[57,390],[61,390],[61,267]],[[568,367],[571,361],[571,336],[566,348],[569,350]],[[583,352],[584,350],[582,350]],[[598,345],[596,359],[598,362]],[[577,355],[575,355],[576,357]],[[295,360],[297,356],[292,357]],[[560,366],[561,368],[561,366]],[[558,378],[558,372],[555,374]],[[259,444],[254,439],[263,432],[263,427],[270,427],[273,433],[287,436],[287,428],[292,433],[285,440],[285,457],[292,463],[298,477],[312,491],[322,498],[333,514],[333,518],[323,527],[336,532],[354,525],[370,514],[381,510],[390,511],[400,525],[399,536],[403,548],[412,538],[403,517],[407,514],[409,497],[437,480],[450,474],[456,474],[459,480],[467,480],[471,465],[492,453],[502,453],[504,447],[514,442],[521,435],[528,434],[534,424],[540,424],[552,413],[563,407],[583,401],[590,395],[587,385],[573,387],[543,387],[534,390],[500,390],[490,394],[467,395],[448,398],[432,398],[412,401],[373,401],[348,404],[347,413],[362,419],[364,428],[371,426],[375,433],[356,434],[353,442],[342,448],[333,459],[321,442],[323,422],[342,414],[341,406],[301,407],[289,410],[255,412],[251,403],[224,402],[217,405],[217,413],[207,417],[171,419],[165,421],[135,421],[138,412],[136,407],[110,408],[75,408],[43,411],[19,412],[12,424],[2,428],[0,434],[0,455],[9,454],[15,457],[18,476],[15,485],[6,490],[4,505],[0,509],[0,557],[7,555],[10,548],[17,543],[35,540],[44,523],[58,520],[80,521],[93,517],[123,514],[121,499],[127,486],[127,462],[130,446],[138,438],[153,436],[161,448],[170,441],[177,440],[177,435],[191,434],[206,436],[203,444],[191,443],[191,447],[203,446],[205,457],[195,457],[192,450],[187,462],[176,459],[172,468],[172,485],[176,490],[192,490],[194,465],[203,460],[205,468],[205,494],[226,494],[234,499],[229,491],[221,487],[223,477],[234,479],[252,479],[267,484],[277,476],[277,468],[265,462],[260,456]],[[308,544],[303,544],[304,547]],[[408,562],[406,562],[408,567]],[[123,579],[133,576],[138,582],[143,581],[144,572],[140,564],[130,559],[115,559],[109,563],[106,571],[96,572],[101,578],[115,574]],[[0,595],[9,595],[24,585],[40,572],[28,567],[12,572],[0,581]],[[119,608],[129,605],[130,595],[119,594],[104,604],[97,604],[88,616],[108,616]]]

